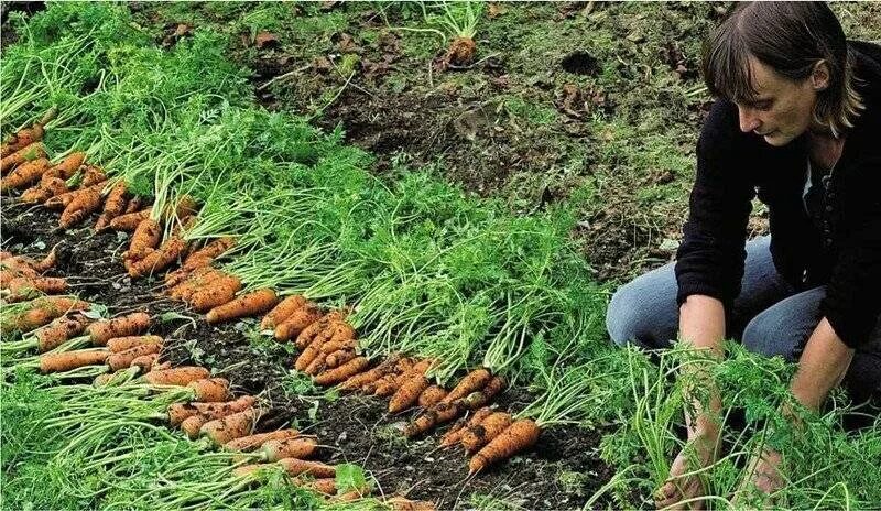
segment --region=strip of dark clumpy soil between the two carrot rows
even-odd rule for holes
[[[378,494],[404,493],[434,501],[438,509],[474,508],[480,498],[475,496],[525,509],[580,509],[612,476],[598,455],[603,432],[566,426],[544,431],[531,452],[469,478],[460,449],[437,447],[445,427],[407,441],[402,427],[415,411],[390,416],[388,403],[372,396],[298,394],[291,387],[290,346],[252,340],[253,319],[210,326],[160,294],[161,278],[131,280],[120,261],[128,235],[95,233],[89,227],[95,217],[84,227],[58,231],[57,213],[14,205],[7,197],[0,213],[3,250],[37,256],[56,247],[58,262],[51,274],[65,276],[80,298],[106,306],[109,315],[150,313],[150,333],[165,338],[162,360],[204,365],[229,379],[237,393],[261,394],[269,410],[259,431],[293,425],[317,435],[324,446],[320,459],[362,466],[376,479]],[[497,405],[521,410],[529,401],[527,393],[511,389]]]

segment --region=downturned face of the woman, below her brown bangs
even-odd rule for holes
[[[828,75],[819,76],[820,81],[817,81],[817,73],[793,81],[755,58],[750,58],[750,66],[758,94],[750,101],[735,101],[740,129],[763,137],[771,145],[786,145],[811,127],[817,91],[826,88]]]

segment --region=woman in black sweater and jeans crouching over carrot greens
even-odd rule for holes
[[[722,338],[739,338],[797,361],[791,389],[807,407],[842,381],[864,401],[881,383],[881,47],[846,41],[824,3],[755,2],[711,34],[701,68],[718,99],[677,261],[618,290],[609,334],[718,357]],[[747,241],[757,194],[771,235]],[[716,395],[686,414],[703,464],[716,456],[718,407]],[[782,456],[757,459],[760,490],[782,486]],[[674,459],[659,507],[701,494],[693,468]]]

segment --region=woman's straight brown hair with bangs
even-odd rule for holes
[[[864,108],[855,89],[845,32],[824,2],[739,4],[704,43],[700,70],[709,91],[732,101],[752,100],[757,91],[750,56],[793,81],[807,79],[825,61],[829,86],[817,94],[814,119],[836,137]]]

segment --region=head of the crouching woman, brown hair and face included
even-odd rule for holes
[[[862,108],[847,41],[823,2],[740,4],[704,46],[704,80],[738,106],[740,128],[785,145],[811,128],[840,134]]]

